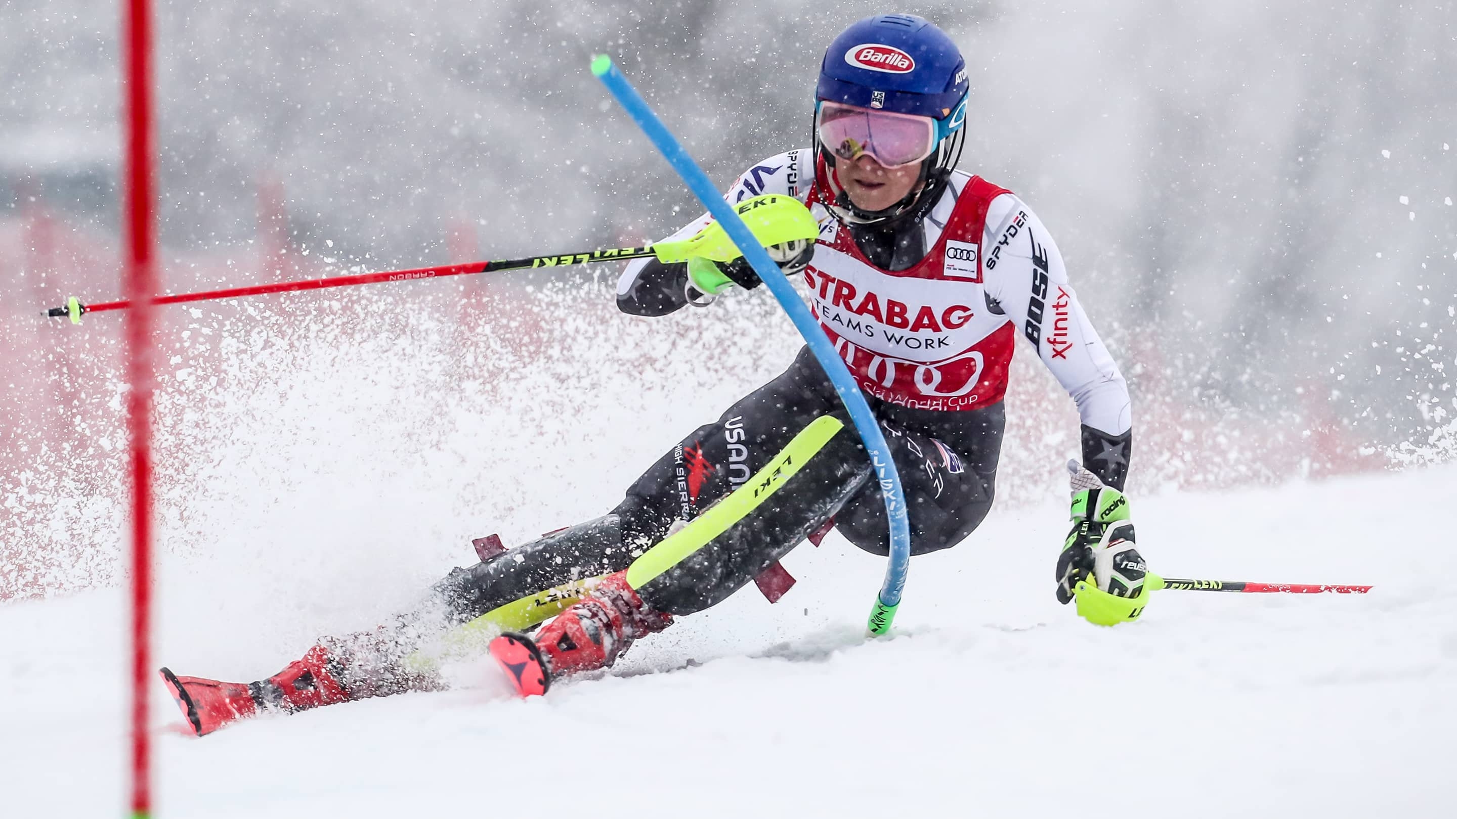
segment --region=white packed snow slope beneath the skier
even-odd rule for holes
[[[832,536],[785,560],[778,605],[750,586],[545,698],[475,663],[449,692],[197,739],[157,683],[157,815],[1450,816],[1454,487],[1432,468],[1135,498],[1166,576],[1367,596],[1169,590],[1097,628],[1053,600],[1049,503],[916,558],[890,638],[864,637],[883,561]],[[179,673],[272,673],[329,619],[286,628],[246,568],[168,560],[157,663]],[[297,589],[331,581],[350,571]],[[121,815],[124,619],[118,590],[0,608],[6,815]]]

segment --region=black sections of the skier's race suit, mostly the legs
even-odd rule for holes
[[[918,223],[852,226],[873,264],[903,270],[924,255]],[[635,315],[663,315],[686,303],[686,265],[648,262],[618,305]],[[1120,382],[1120,379],[1119,379]],[[911,554],[959,544],[986,517],[997,479],[1002,404],[972,411],[912,410],[867,396],[881,420],[900,474],[911,523]],[[1126,392],[1125,392],[1126,401]],[[517,546],[471,568],[457,568],[436,590],[456,621],[559,586],[627,568],[678,519],[691,519],[774,458],[819,415],[845,428],[769,501],[689,560],[640,589],[648,605],[670,614],[712,606],[743,587],[833,517],[857,546],[887,554],[889,526],[880,488],[819,363],[803,348],[790,367],[698,427],[657,459],[609,514]],[[1131,431],[1109,434],[1084,424],[1088,468],[1122,488]],[[1112,456],[1109,453],[1113,453]]]

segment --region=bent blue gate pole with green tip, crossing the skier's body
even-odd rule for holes
[[[753,233],[739,219],[739,214],[724,201],[718,188],[708,179],[708,175],[683,150],[683,146],[667,130],[667,125],[653,114],[647,101],[622,76],[622,71],[612,63],[612,58],[606,54],[594,57],[592,60],[592,73],[608,86],[608,90],[612,92],[618,103],[627,109],[632,121],[643,128],[643,133],[653,140],[653,144],[663,153],[663,157],[673,166],[673,171],[683,178],[688,188],[698,197],[698,201],[704,203],[708,213],[723,226],[724,233],[739,246],[745,259],[749,261],[753,271],[769,287],[774,297],[779,300],[779,306],[784,307],[784,312],[790,315],[790,321],[798,328],[800,335],[809,342],[810,351],[814,353],[820,367],[825,369],[825,375],[835,385],[835,392],[839,395],[841,402],[849,411],[849,418],[855,423],[860,439],[865,443],[865,450],[870,453],[870,462],[876,468],[876,478],[880,481],[880,494],[886,500],[886,516],[890,519],[890,565],[886,568],[886,581],[880,586],[876,606],[870,612],[870,632],[884,634],[890,631],[890,624],[896,616],[896,606],[900,605],[900,593],[905,590],[906,571],[911,565],[911,522],[906,517],[906,501],[905,491],[900,488],[900,475],[890,459],[890,447],[886,444],[886,437],[880,433],[880,424],[871,414],[870,405],[865,404],[865,398],[860,393],[860,385],[855,383],[849,370],[845,369],[845,363],[839,360],[835,347],[829,342],[825,332],[820,331],[819,322],[814,321],[809,307],[804,306],[798,293],[794,291],[794,286],[779,273],[779,265],[774,264],[774,259],[769,258],[769,254],[753,238]]]

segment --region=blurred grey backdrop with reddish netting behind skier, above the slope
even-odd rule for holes
[[[609,105],[587,55],[613,52],[727,185],[807,143],[823,44],[874,9],[160,3],[165,287],[660,236],[696,207]],[[909,10],[940,22],[967,57],[975,114],[962,166],[1039,210],[1129,377],[1135,491],[1451,456],[1451,9]],[[93,316],[77,329],[36,315],[70,294],[118,294],[118,28],[112,3],[0,4],[12,89],[0,108],[0,596],[105,583],[118,554],[121,321]],[[503,415],[522,398],[565,399],[570,414],[529,411],[529,423],[542,440],[576,440],[583,418],[616,411],[622,389],[673,395],[627,428],[597,423],[641,444],[610,468],[590,462],[616,487],[645,453],[793,354],[768,299],[628,319],[610,306],[615,275],[603,267],[555,281],[452,280],[169,310],[159,396],[160,434],[175,446],[162,477],[168,513],[195,519],[188,498],[246,485],[265,455],[339,450],[318,440],[329,428],[318,418],[331,412],[361,430],[393,424],[361,442],[360,458],[411,482],[421,477],[409,463],[465,440],[440,415],[444,405],[455,418],[501,420],[455,474],[431,475],[437,491],[459,493],[482,485],[487,452],[523,423]],[[714,351],[714,367],[675,361],[701,350]],[[1058,491],[1075,430],[1052,379],[1024,351],[1014,366],[1000,494],[1032,503]],[[527,372],[549,386],[526,393]],[[367,405],[361,383],[382,388]],[[261,395],[275,401],[259,407]],[[255,410],[239,415],[242,407]],[[430,424],[414,423],[424,415]],[[249,430],[267,452],[236,449]],[[232,469],[232,481],[220,482],[208,465],[230,444],[236,458],[217,469]],[[593,449],[578,452],[581,469]],[[501,519],[482,501],[459,498],[455,514]],[[184,542],[198,538],[188,530]]]

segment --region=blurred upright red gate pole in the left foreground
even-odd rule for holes
[[[125,0],[125,293],[127,430],[131,437],[131,816],[152,816],[147,681],[152,666],[152,328],[157,291],[153,232],[153,93],[150,0]]]

